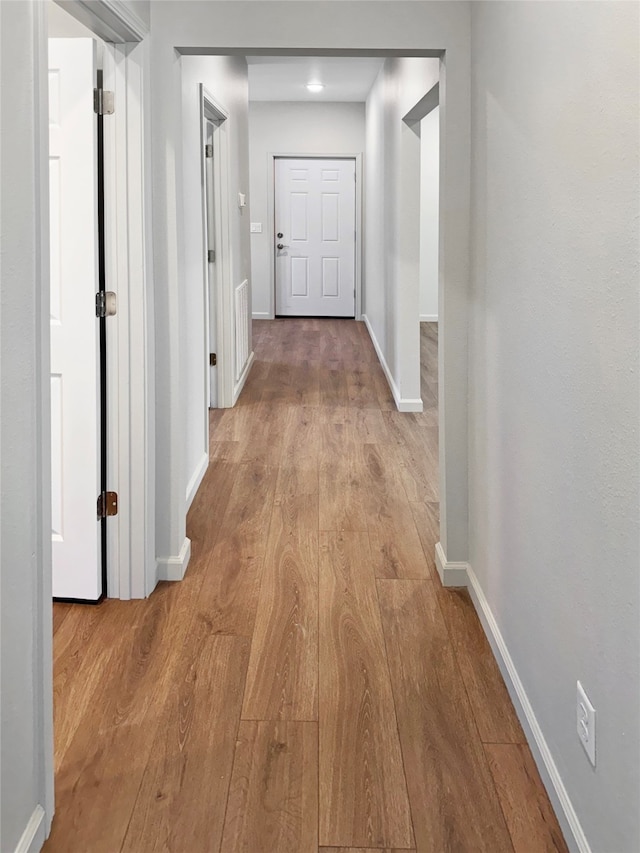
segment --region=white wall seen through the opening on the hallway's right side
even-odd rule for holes
[[[420,319],[438,319],[440,108],[420,122]]]

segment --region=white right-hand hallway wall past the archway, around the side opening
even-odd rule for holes
[[[367,100],[364,311],[396,403],[420,401],[420,137],[402,121],[437,59],[387,59]]]

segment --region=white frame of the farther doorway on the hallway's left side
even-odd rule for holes
[[[209,363],[209,324],[211,322],[211,300],[215,307],[215,323],[218,348],[218,408],[227,409],[233,405],[233,293],[231,286],[231,243],[229,236],[229,136],[228,111],[217,102],[213,95],[200,84],[200,139],[202,161],[202,235],[204,252],[202,257],[204,287],[204,341],[205,358]],[[206,140],[206,120],[216,125],[214,133],[213,158],[213,204],[215,210],[214,228],[216,235],[215,280],[210,287],[209,264],[206,257],[207,246],[207,197],[206,197],[206,161],[204,146]],[[213,291],[213,296],[210,293]],[[209,370],[205,372],[205,419],[207,447],[209,452]]]

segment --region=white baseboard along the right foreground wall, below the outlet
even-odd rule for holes
[[[591,847],[569,799],[569,794],[553,760],[551,750],[544,738],[524,685],[520,680],[513,658],[509,653],[509,649],[491,611],[489,602],[471,566],[467,567],[467,586],[473,605],[493,650],[493,655],[507,685],[507,690],[515,706],[516,713],[524,729],[531,753],[540,772],[542,783],[547,790],[565,840],[573,853],[591,853]]]

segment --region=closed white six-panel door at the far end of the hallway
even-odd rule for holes
[[[355,160],[275,164],[276,314],[354,317]]]

